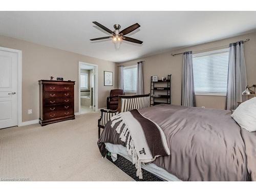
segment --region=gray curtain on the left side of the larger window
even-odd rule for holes
[[[192,51],[183,53],[181,105],[196,106]]]

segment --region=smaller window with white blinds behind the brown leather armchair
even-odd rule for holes
[[[137,92],[137,66],[123,68],[123,89],[126,93]]]

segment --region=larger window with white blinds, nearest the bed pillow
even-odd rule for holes
[[[226,95],[228,60],[228,49],[193,55],[196,95]]]

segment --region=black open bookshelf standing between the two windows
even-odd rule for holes
[[[167,76],[166,80],[153,81],[151,76],[151,91],[150,91],[150,105],[156,104],[171,104],[171,83],[172,74]],[[156,96],[157,95],[157,96]]]

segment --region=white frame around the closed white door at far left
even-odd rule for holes
[[[0,47],[1,51],[17,53],[17,126],[22,125],[22,50],[10,49],[6,47]]]

